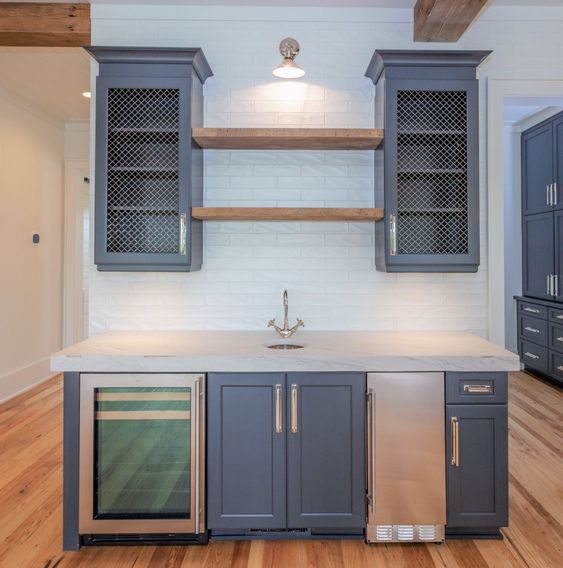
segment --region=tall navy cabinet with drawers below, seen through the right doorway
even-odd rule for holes
[[[522,296],[526,369],[563,384],[563,112],[522,133]]]

